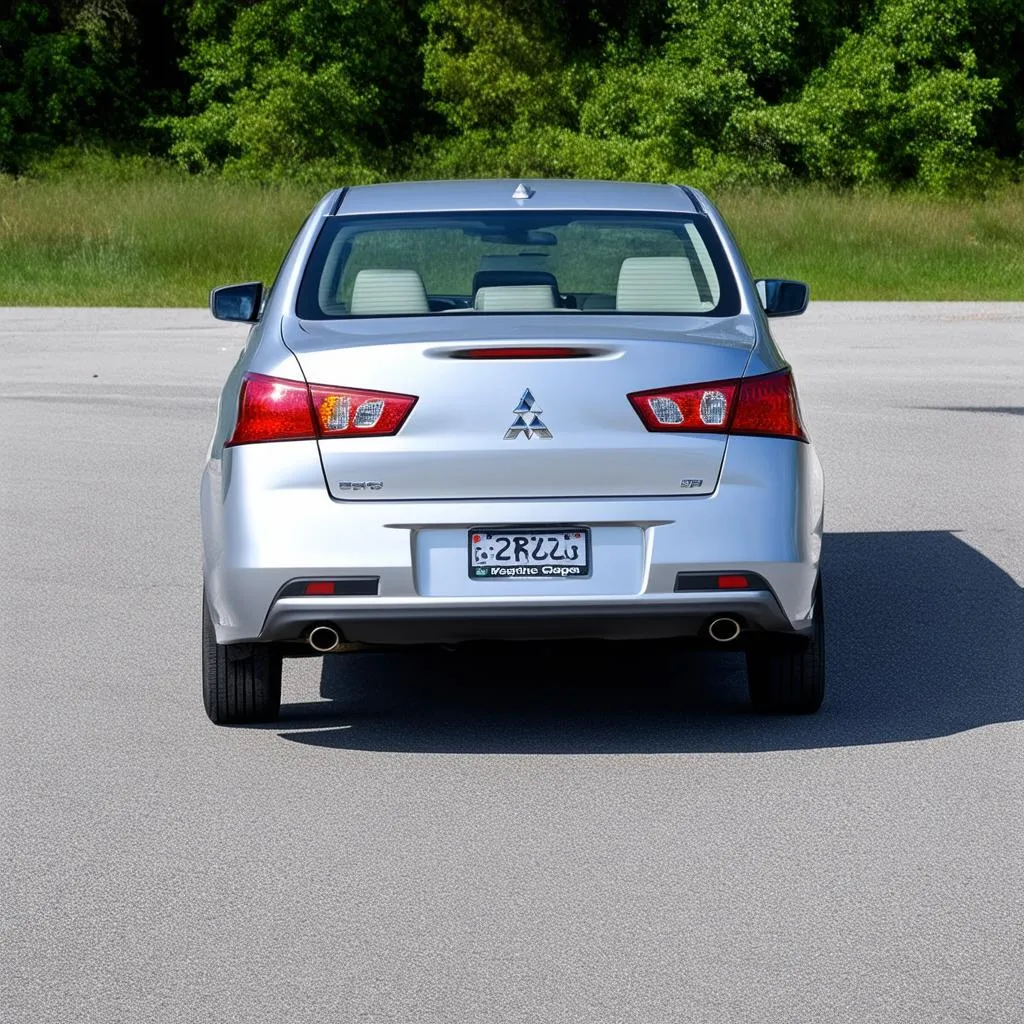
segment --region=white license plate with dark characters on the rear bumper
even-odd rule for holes
[[[471,580],[580,580],[590,575],[590,529],[471,529]]]

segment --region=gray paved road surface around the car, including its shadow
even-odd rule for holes
[[[0,310],[0,1020],[1024,1021],[1024,304],[777,336],[819,716],[732,655],[538,647],[288,663],[228,730],[197,480],[243,332]]]

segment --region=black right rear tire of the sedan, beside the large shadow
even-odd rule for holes
[[[814,588],[810,638],[770,636],[746,651],[746,684],[758,711],[811,715],[825,695],[825,606],[821,580]]]

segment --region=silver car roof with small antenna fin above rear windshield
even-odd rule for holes
[[[528,199],[523,198],[526,193],[529,194]],[[345,216],[515,209],[697,212],[690,194],[679,185],[555,178],[397,181],[355,185],[341,195],[341,202],[334,212]]]

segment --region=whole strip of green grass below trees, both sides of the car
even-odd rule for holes
[[[200,306],[270,281],[317,193],[88,162],[0,177],[0,305]],[[1024,187],[987,200],[716,195],[756,274],[818,299],[1024,300]]]

